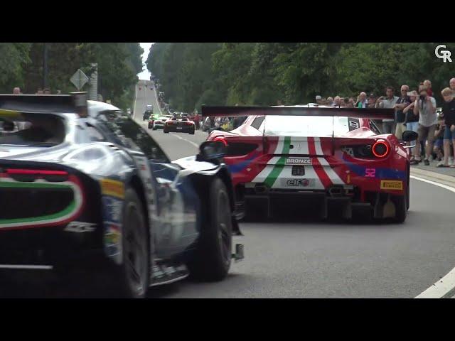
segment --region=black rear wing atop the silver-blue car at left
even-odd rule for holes
[[[87,116],[87,92],[71,94],[0,94],[0,111]]]

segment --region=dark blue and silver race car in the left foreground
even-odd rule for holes
[[[97,274],[101,295],[132,298],[225,278],[242,246],[232,253],[223,144],[171,162],[131,117],[86,98],[0,94],[0,271],[84,269],[80,286]]]

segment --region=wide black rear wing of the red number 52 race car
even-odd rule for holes
[[[361,119],[394,119],[394,109],[363,109],[336,107],[202,107],[203,117],[242,116],[326,116],[355,117]]]

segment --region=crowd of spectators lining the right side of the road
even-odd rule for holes
[[[418,134],[415,148],[412,148],[411,164],[429,166],[432,159],[439,161],[437,167],[455,168],[455,77],[449,87],[441,91],[444,99],[440,108],[432,89],[432,82],[424,80],[418,90],[402,85],[400,96],[393,87],[386,87],[385,96],[360,92],[353,97],[316,96],[316,104],[328,107],[347,108],[390,108],[395,109],[394,119],[376,121],[383,134],[395,134],[402,139],[403,131],[412,130]],[[439,110],[438,110],[439,109]]]

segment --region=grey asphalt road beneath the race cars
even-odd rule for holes
[[[142,87],[135,117],[140,121],[146,104],[158,108],[155,102],[154,92]],[[149,132],[171,160],[197,153],[197,144],[206,136],[200,131],[194,136]],[[245,244],[245,260],[232,264],[225,281],[181,281],[151,288],[149,297],[413,298],[455,266],[455,198],[454,193],[419,180],[411,180],[410,195],[405,224],[288,217],[242,223],[245,237],[239,240]],[[23,282],[11,287],[2,296],[77,297],[85,291],[77,284],[58,290]]]

